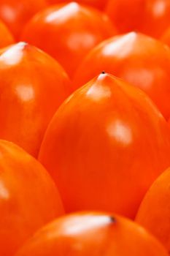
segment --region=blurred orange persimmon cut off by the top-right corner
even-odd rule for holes
[[[109,0],[106,12],[121,33],[136,30],[159,38],[170,26],[169,0]]]

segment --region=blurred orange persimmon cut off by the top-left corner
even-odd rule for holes
[[[20,32],[28,20],[39,10],[47,7],[46,0],[1,0],[0,18],[19,39]]]

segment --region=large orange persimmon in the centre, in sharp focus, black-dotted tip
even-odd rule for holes
[[[170,164],[169,127],[150,99],[112,75],[77,90],[55,113],[39,152],[66,212],[135,217]]]

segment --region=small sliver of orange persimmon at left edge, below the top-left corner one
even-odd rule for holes
[[[9,29],[0,21],[0,48],[4,48],[7,45],[12,45],[14,42],[15,40]]]

